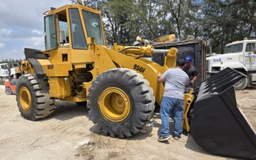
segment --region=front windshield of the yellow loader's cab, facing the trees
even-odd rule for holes
[[[104,45],[100,15],[83,10],[88,37],[95,38],[95,43]]]

